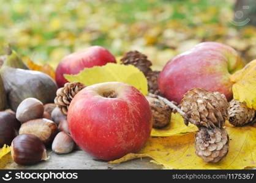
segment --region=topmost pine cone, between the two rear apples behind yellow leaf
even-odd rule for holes
[[[148,60],[145,54],[141,54],[138,51],[129,51],[121,59],[124,65],[134,65],[146,76],[146,73],[151,71],[150,66],[152,63]]]

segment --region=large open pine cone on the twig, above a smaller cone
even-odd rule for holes
[[[181,110],[186,113],[187,120],[198,128],[222,127],[228,119],[228,102],[225,95],[210,92],[202,88],[193,88],[185,93],[181,100]]]

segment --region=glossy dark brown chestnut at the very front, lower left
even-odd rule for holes
[[[12,141],[11,154],[14,162],[21,165],[32,165],[47,160],[47,151],[42,141],[32,134],[18,135]]]

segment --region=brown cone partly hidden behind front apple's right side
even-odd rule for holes
[[[151,96],[146,96],[146,99],[151,106],[153,127],[162,128],[167,126],[171,121],[171,108],[160,99]]]

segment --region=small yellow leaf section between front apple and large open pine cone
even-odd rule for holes
[[[169,137],[173,135],[184,135],[189,132],[197,131],[197,127],[189,124],[186,126],[183,122],[183,117],[179,113],[171,113],[171,122],[167,127],[162,129],[153,128],[151,136],[153,137]]]

